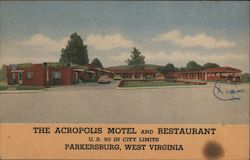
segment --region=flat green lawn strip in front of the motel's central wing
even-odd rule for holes
[[[187,86],[182,82],[171,81],[124,81],[122,87],[158,87],[158,86]]]

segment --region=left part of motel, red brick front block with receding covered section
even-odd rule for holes
[[[101,75],[112,76],[113,72],[90,65],[80,66],[55,62],[11,64],[7,66],[8,85],[70,85],[96,81]]]

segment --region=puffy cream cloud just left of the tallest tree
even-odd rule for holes
[[[29,39],[24,40],[21,43],[24,46],[30,47],[39,47],[46,51],[60,52],[62,48],[64,48],[67,44],[68,38],[62,38],[60,40],[53,40],[43,34],[35,34],[31,36]]]

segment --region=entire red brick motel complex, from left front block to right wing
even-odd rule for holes
[[[7,66],[8,85],[49,86],[70,85],[80,82],[96,82],[102,75],[120,75],[128,79],[162,79],[155,69],[148,68],[96,68],[90,64],[45,62],[41,64],[11,64]],[[202,71],[169,72],[168,79],[202,81],[240,81],[241,70],[231,67],[208,68]],[[164,77],[164,76],[163,76]],[[163,78],[164,79],[164,78]]]

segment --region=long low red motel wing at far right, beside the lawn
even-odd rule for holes
[[[239,82],[241,70],[231,67],[208,68],[203,71],[184,71],[171,72],[167,75],[168,78],[186,79],[186,80],[204,80],[215,81],[224,80]]]

